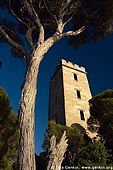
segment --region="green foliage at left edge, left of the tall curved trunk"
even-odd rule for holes
[[[0,169],[11,170],[17,159],[18,119],[0,87]]]

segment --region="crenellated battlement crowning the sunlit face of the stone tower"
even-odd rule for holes
[[[62,59],[62,60],[61,60],[61,64],[64,65],[64,66],[66,66],[66,67],[72,68],[72,69],[74,69],[74,70],[78,70],[78,71],[81,71],[81,72],[86,73],[86,70],[85,70],[84,67],[79,66],[79,65],[77,65],[77,64],[73,64],[73,63],[70,62],[70,61],[66,61],[66,60]]]

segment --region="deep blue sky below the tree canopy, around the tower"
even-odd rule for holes
[[[45,55],[39,70],[35,109],[37,154],[42,151],[41,145],[48,121],[49,81],[61,59],[86,68],[92,95],[111,89],[113,88],[113,34],[97,43],[85,44],[77,50],[69,46],[65,40],[61,40]],[[10,47],[6,44],[0,44],[0,60],[3,63],[0,69],[0,86],[7,91],[13,111],[17,113],[25,63],[23,60],[13,58]]]

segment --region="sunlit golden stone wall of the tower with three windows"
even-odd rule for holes
[[[62,60],[62,70],[66,125],[80,124],[86,129],[86,122],[90,116],[88,101],[92,96],[85,68]],[[77,80],[74,79],[74,74]],[[77,97],[77,91],[80,92],[80,98]],[[84,120],[81,120],[80,110],[84,114]]]

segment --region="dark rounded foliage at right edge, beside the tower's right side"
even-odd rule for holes
[[[106,90],[90,101],[90,113],[100,124],[99,133],[103,137],[112,136],[113,133],[113,90]]]

